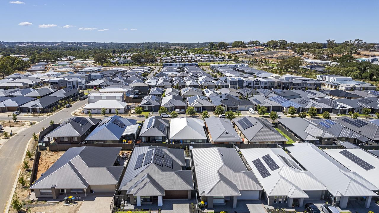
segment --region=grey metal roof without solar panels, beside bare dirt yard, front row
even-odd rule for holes
[[[113,166],[120,147],[68,149],[30,189],[84,189],[89,185],[117,185],[124,169]]]

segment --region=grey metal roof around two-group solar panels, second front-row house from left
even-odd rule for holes
[[[154,163],[157,149],[164,152],[164,156],[172,158],[172,168]],[[137,158],[141,154],[146,160],[146,152],[153,150],[151,163],[143,163],[135,169]],[[145,164],[145,165],[144,165]],[[185,166],[184,149],[168,149],[166,147],[135,147],[128,161],[125,175],[122,178],[119,190],[134,196],[164,196],[165,190],[193,190],[193,176],[191,170],[182,170]]]

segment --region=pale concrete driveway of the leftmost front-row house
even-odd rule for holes
[[[111,212],[111,202],[113,199],[113,193],[95,193],[88,194],[88,196],[81,204],[78,213],[110,213]]]

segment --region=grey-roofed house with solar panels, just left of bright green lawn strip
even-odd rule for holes
[[[274,128],[273,124],[264,118],[243,116],[234,118],[232,121],[245,144],[285,144],[288,141]]]

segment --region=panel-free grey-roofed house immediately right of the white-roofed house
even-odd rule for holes
[[[207,117],[205,128],[212,144],[240,144],[242,140],[229,119],[221,117]]]

